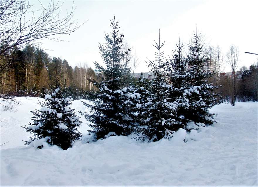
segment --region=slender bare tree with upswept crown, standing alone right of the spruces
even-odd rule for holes
[[[227,52],[227,60],[228,64],[230,65],[232,76],[231,76],[231,83],[232,83],[232,90],[231,90],[231,106],[235,106],[235,81],[236,81],[236,70],[238,67],[238,47],[231,45]]]

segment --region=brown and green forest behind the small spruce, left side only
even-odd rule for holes
[[[86,63],[72,68],[65,59],[50,57],[43,49],[26,45],[24,49],[12,48],[1,58],[12,61],[11,66],[1,72],[0,93],[25,92],[36,95],[42,89],[48,89],[52,78],[58,74],[61,85],[76,87],[82,91],[90,89],[86,77],[96,80],[93,69]],[[9,59],[7,59],[9,58]],[[91,85],[92,89],[92,85]]]

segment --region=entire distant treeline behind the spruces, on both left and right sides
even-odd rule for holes
[[[127,43],[125,43],[125,48],[128,48]],[[86,63],[83,65],[77,64],[72,68],[67,60],[57,57],[51,58],[43,49],[31,45],[27,45],[23,49],[14,47],[7,53],[6,58],[1,58],[0,65],[6,63],[5,60],[12,63],[10,63],[11,66],[1,72],[1,94],[16,93],[18,95],[38,96],[44,93],[45,89],[51,87],[52,78],[58,74],[61,85],[65,84],[66,87],[72,87],[73,92],[76,89],[79,92],[77,94],[82,95],[84,91],[94,90],[93,84],[90,85],[87,78],[91,78],[91,80],[101,79]],[[215,86],[221,85],[215,92],[220,93],[224,102],[229,102],[233,87],[232,74],[221,74],[220,63],[222,63],[222,60],[216,59],[220,52],[216,53],[216,50],[209,47],[206,53],[209,54],[210,58],[206,67],[214,73],[210,82],[213,82]],[[129,56],[132,58],[131,54]],[[134,59],[131,65],[132,72],[138,65],[139,63],[135,62]],[[211,65],[213,67],[209,68]],[[258,101],[258,61],[250,65],[249,68],[241,67],[240,71],[235,72],[235,77],[236,100],[240,102]],[[135,81],[134,78],[128,77],[128,82],[136,83]]]

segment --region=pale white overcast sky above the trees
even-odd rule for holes
[[[62,3],[62,1],[60,1]],[[72,1],[63,1],[62,14],[70,10]],[[30,1],[35,7],[38,1]],[[44,1],[47,3],[47,1]],[[88,20],[70,36],[60,39],[69,42],[55,42],[44,39],[42,48],[49,55],[66,59],[72,67],[77,63],[94,69],[93,62],[102,63],[99,55],[99,43],[104,43],[104,32],[110,32],[110,19],[115,15],[119,20],[120,31],[124,31],[124,40],[133,47],[140,65],[136,72],[147,72],[144,60],[154,59],[152,44],[165,41],[165,56],[171,55],[179,34],[186,46],[191,40],[195,24],[202,33],[206,46],[217,46],[226,53],[231,44],[239,47],[240,65],[249,67],[258,55],[258,1],[74,1],[77,6],[74,19],[79,23]],[[226,63],[226,57],[224,57]],[[229,67],[225,68],[229,71]]]

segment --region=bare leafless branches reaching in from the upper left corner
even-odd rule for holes
[[[75,8],[73,4],[71,10],[66,11],[66,15],[62,17],[62,4],[59,1],[51,0],[47,6],[41,4],[41,9],[33,10],[33,6],[26,0],[1,0],[0,75],[5,76],[5,70],[13,63],[9,56],[13,47],[37,45],[38,40],[42,38],[62,41],[58,35],[70,34],[84,24],[85,22],[79,25],[77,20],[73,19]],[[0,96],[5,97],[8,95]]]

